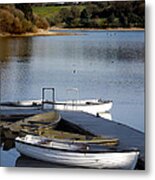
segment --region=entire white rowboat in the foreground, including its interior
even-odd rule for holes
[[[93,150],[85,144],[70,144],[53,140],[46,141],[39,136],[17,137],[16,149],[23,155],[42,161],[69,166],[99,169],[134,169],[138,150]]]

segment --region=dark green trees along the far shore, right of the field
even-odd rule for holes
[[[145,2],[104,1],[74,4],[70,8],[60,9],[48,22],[51,26],[67,28],[144,28]]]

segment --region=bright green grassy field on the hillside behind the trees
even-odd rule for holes
[[[78,6],[80,10],[83,10],[84,6]],[[62,8],[70,9],[71,6],[37,6],[33,7],[33,12],[41,17],[53,17],[56,15]]]

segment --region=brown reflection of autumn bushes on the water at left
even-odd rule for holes
[[[32,54],[32,38],[1,38],[0,61],[9,61],[13,57],[28,61]]]

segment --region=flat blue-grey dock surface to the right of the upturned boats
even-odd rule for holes
[[[138,148],[140,150],[140,159],[145,161],[145,135],[134,128],[121,123],[106,120],[83,112],[61,111],[61,116],[85,130],[95,135],[106,135],[117,137],[120,140],[120,146],[123,148]]]

